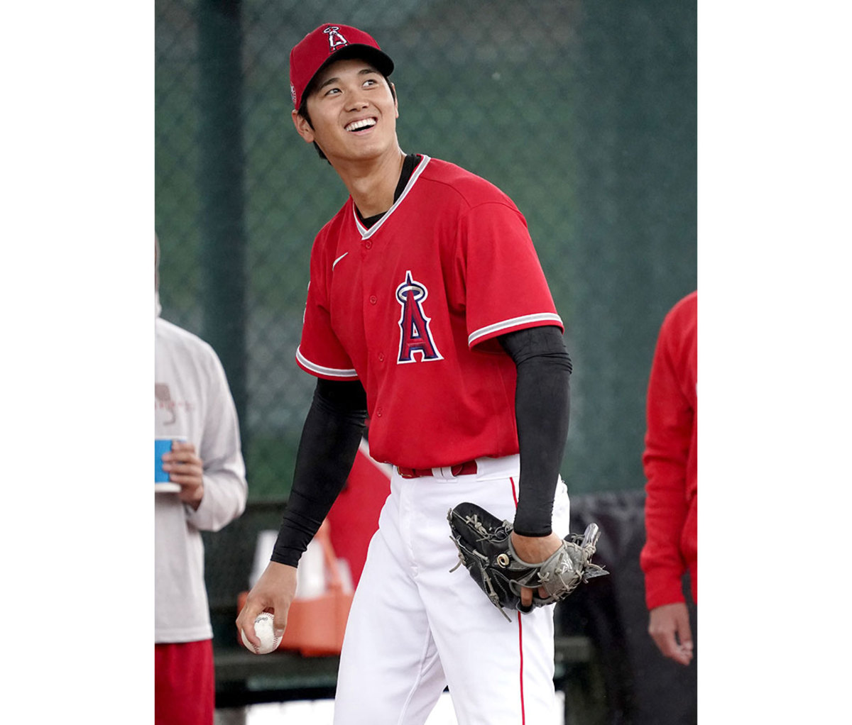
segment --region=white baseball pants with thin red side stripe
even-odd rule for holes
[[[448,685],[459,725],[548,722],[554,708],[553,607],[498,608],[466,568],[447,511],[462,501],[514,520],[519,457],[477,460],[474,475],[402,478],[373,536],[349,614],[335,725],[423,725]],[[567,488],[553,528],[568,533]]]

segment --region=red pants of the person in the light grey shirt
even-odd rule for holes
[[[154,645],[156,725],[213,725],[213,641]]]

